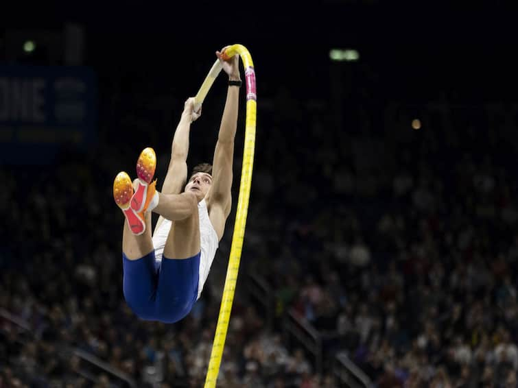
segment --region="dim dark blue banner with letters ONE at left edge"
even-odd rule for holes
[[[97,132],[97,78],[82,66],[0,66],[0,163],[46,164]]]

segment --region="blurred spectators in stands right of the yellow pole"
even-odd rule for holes
[[[279,205],[255,236],[277,315],[310,322],[325,360],[346,351],[377,387],[517,387],[516,135],[457,110],[453,129],[358,136],[309,112],[296,144],[286,119],[265,150],[276,173],[255,175],[255,198]]]

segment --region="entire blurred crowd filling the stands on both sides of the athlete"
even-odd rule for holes
[[[89,369],[78,350],[139,387],[203,384],[233,222],[187,318],[164,325],[134,316],[121,292],[123,216],[112,180],[154,144],[163,177],[176,118],[170,108],[152,112],[164,100],[148,99],[146,88],[136,98],[110,87],[95,150],[0,171],[0,308],[19,319],[0,315],[0,387],[125,386]],[[375,387],[516,387],[517,185],[504,124],[470,122],[468,111],[453,132],[431,123],[412,130],[368,119],[375,107],[342,120],[331,105],[282,87],[259,104],[240,274],[266,279],[274,324],[242,276],[219,384],[339,387],[329,366],[342,351]],[[220,112],[204,114],[218,122]],[[140,141],[121,141],[128,131]],[[191,136],[191,164],[206,160],[213,142]],[[241,145],[238,134],[236,200]],[[320,333],[322,371],[283,335],[289,312]]]

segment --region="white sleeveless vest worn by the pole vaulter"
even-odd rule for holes
[[[205,199],[198,204],[198,215],[200,217],[200,280],[198,282],[198,299],[202,294],[202,289],[209,276],[211,265],[216,254],[217,246],[219,245],[219,239],[217,239],[217,233],[212,226],[211,219],[209,218],[209,211],[207,210],[207,202]],[[153,246],[155,260],[158,262],[162,261],[164,253],[165,241],[171,230],[172,221],[164,219],[161,225],[153,234]]]

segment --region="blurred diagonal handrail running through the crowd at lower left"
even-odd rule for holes
[[[16,317],[4,308],[0,308],[0,317],[21,328],[25,334],[30,335],[30,340],[34,341],[34,339],[38,339],[38,336],[31,328],[30,324],[25,322],[25,320],[21,319],[20,317]],[[84,352],[84,350],[80,350],[78,348],[71,348],[68,345],[56,345],[56,349],[59,349],[62,360],[69,360],[71,355],[75,355],[80,359],[80,361],[86,363],[86,365],[82,367],[78,373],[84,378],[91,380],[93,383],[97,383],[97,376],[104,373],[108,376],[111,376],[112,378],[115,378],[116,380],[119,380],[119,382],[123,383],[125,387],[137,388],[137,383],[135,383],[135,381],[132,380],[132,378],[130,378],[127,374],[120,372],[118,369],[112,367],[108,363],[105,363],[93,354]]]

